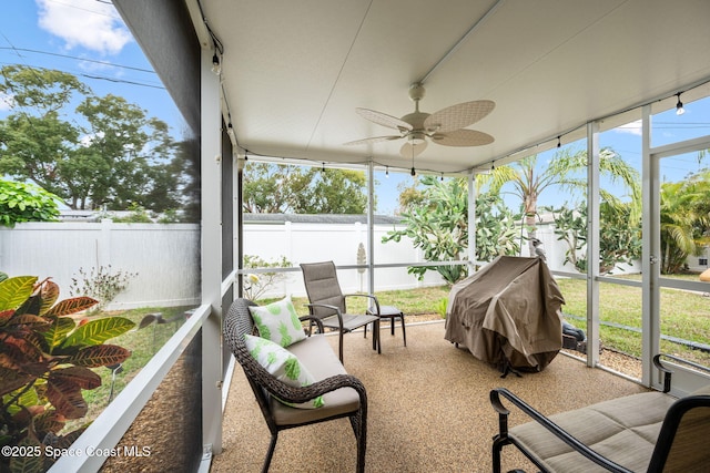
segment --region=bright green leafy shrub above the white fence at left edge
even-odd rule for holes
[[[55,222],[60,198],[33,184],[0,179],[0,225],[21,222]]]

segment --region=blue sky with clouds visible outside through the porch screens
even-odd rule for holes
[[[171,126],[180,138],[182,117],[145,59],[140,47],[109,0],[12,0],[6,1],[0,17],[0,64],[51,68],[77,75],[97,95],[113,93],[139,104],[149,115]],[[0,95],[0,119],[8,114],[11,97]],[[653,119],[653,144],[710,134],[710,100],[686,104],[681,116],[669,111]],[[601,146],[610,146],[640,171],[641,140],[638,123],[605,132]],[[584,142],[568,144],[584,150]],[[545,166],[556,150],[540,153]],[[689,171],[708,166],[694,157],[663,162],[666,178],[677,181]],[[689,169],[690,166],[690,169]],[[392,215],[398,207],[399,185],[409,185],[407,173],[376,173],[377,214]],[[602,183],[604,185],[604,183]],[[504,195],[511,208],[519,204],[508,192]],[[569,195],[549,189],[539,205],[559,206]]]

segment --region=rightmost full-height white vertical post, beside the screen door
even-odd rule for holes
[[[641,382],[652,385],[653,356],[660,352],[660,182],[658,158],[651,154],[651,106],[641,109]],[[660,387],[660,381],[656,385]]]

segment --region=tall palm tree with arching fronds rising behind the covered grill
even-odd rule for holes
[[[488,185],[490,192],[499,193],[508,183],[513,184],[513,193],[523,203],[525,225],[529,232],[530,255],[534,254],[535,216],[537,202],[545,189],[560,186],[562,189],[580,191],[587,188],[586,176],[579,177],[579,172],[587,168],[587,152],[571,152],[569,148],[559,150],[544,169],[537,168],[537,155],[527,156],[506,166],[491,169],[488,175],[478,176],[479,185]],[[630,192],[633,208],[632,219],[640,217],[641,188],[638,171],[629,166],[621,156],[611,148],[604,148],[599,153],[599,169],[612,183],[621,182]],[[610,205],[618,205],[619,199],[608,192],[600,191],[601,198]]]

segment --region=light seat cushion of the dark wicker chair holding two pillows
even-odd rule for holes
[[[288,350],[298,358],[315,381],[321,381],[335,374],[347,374],[341,360],[338,360],[323,335],[308,337],[290,346]],[[272,412],[276,424],[292,425],[352,412],[359,405],[357,391],[352,388],[341,388],[328,392],[323,395],[323,401],[324,405],[322,408],[306,410],[292,409],[272,399]]]

